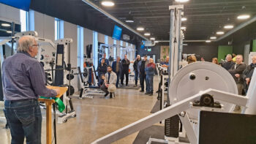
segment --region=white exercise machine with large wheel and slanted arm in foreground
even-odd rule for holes
[[[173,105],[157,113],[124,126],[94,143],[112,143],[133,132],[145,129],[166,118],[178,115],[190,143],[196,144],[198,137],[198,112],[200,110],[230,113],[235,105],[243,106],[242,113],[256,114],[256,72],[252,77],[246,96],[238,95],[233,77],[222,67],[209,62],[196,62],[180,69],[170,83],[168,96]],[[178,137],[165,139],[168,143],[179,143]]]

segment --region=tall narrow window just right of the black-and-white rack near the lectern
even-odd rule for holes
[[[83,27],[78,26],[78,67],[83,72]]]

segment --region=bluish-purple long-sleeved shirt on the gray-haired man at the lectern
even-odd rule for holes
[[[45,87],[45,71],[29,53],[16,53],[4,60],[2,66],[4,100],[38,99],[56,96]]]

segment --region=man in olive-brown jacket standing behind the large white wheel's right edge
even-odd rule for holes
[[[238,55],[236,56],[236,64],[234,64],[231,69],[228,70],[230,74],[234,77],[234,80],[236,81],[236,86],[238,88],[238,94],[242,95],[243,91],[243,79],[240,77],[241,74],[243,74],[244,69],[246,69],[246,64],[243,64],[243,56]],[[236,108],[234,111],[241,110],[241,107],[239,105],[236,105]]]

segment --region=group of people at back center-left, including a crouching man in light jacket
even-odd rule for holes
[[[107,84],[115,84],[116,88],[118,88],[119,79],[121,85],[124,86],[124,76],[126,78],[125,85],[128,86],[129,83],[129,64],[130,61],[127,58],[127,55],[124,55],[124,59],[121,60],[119,56],[117,56],[116,61],[113,61],[112,66],[110,67],[109,61],[106,58],[106,54],[103,54],[103,57],[99,60],[99,66],[97,68],[99,83],[98,86],[105,91],[105,96],[108,96],[108,87],[105,86],[104,83]],[[111,69],[110,69],[111,68]],[[143,59],[138,55],[133,64],[134,72],[135,72],[135,86],[138,86],[138,78],[140,78],[140,92],[145,90],[145,82],[146,82],[146,93],[150,96],[153,95],[153,86],[154,86],[154,72],[156,69],[156,65],[154,64],[153,58],[147,59],[147,56],[143,56]],[[115,75],[110,75],[110,72],[114,72]],[[106,77],[108,77],[108,80]],[[114,79],[114,80],[113,80]],[[111,83],[108,83],[108,82]],[[112,94],[110,94],[110,98]]]

